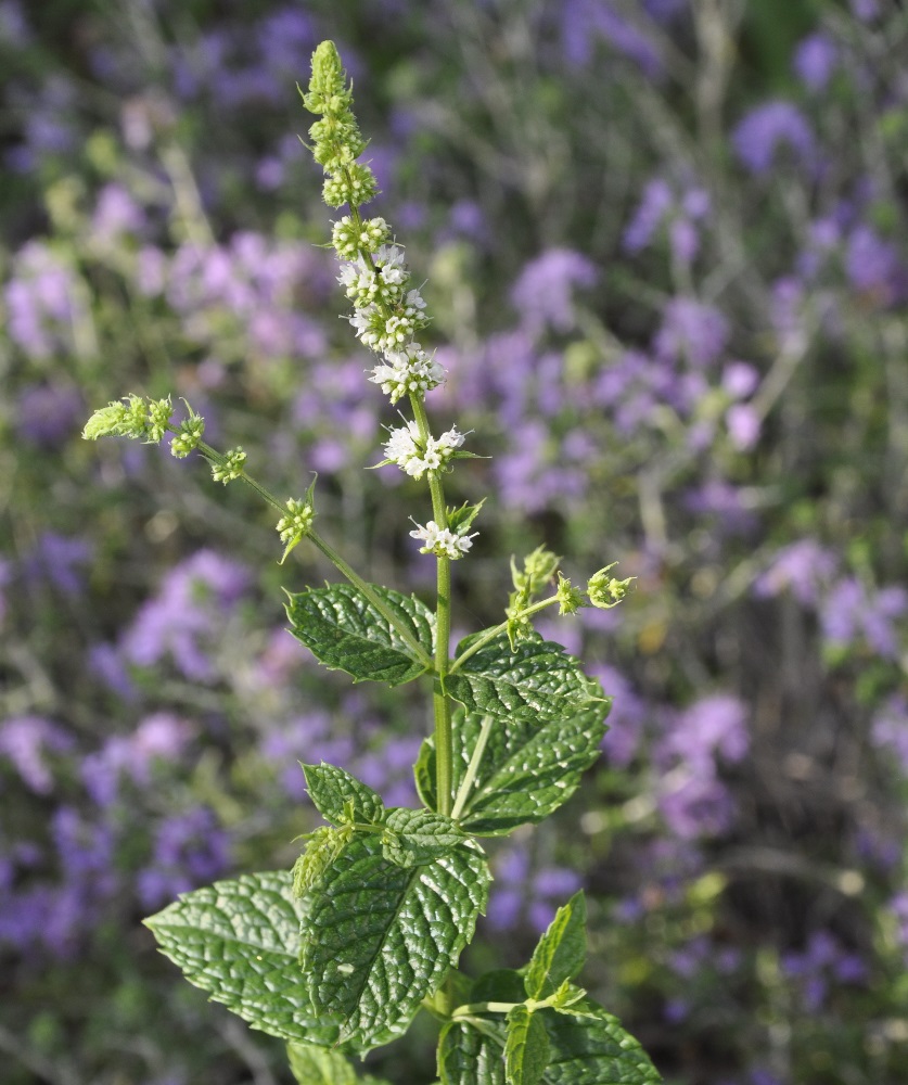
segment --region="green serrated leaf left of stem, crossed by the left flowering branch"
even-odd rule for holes
[[[435,618],[414,596],[370,585],[384,605],[431,658]],[[331,584],[290,596],[291,633],[332,671],[355,681],[370,679],[399,686],[424,674],[427,663],[412,643],[351,584]]]

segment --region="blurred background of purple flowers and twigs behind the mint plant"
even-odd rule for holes
[[[0,1059],[7,1085],[286,1085],[140,920],[289,866],[298,758],[414,801],[418,695],[317,669],[334,578],[195,457],[89,445],[184,396],[270,489],[421,590],[420,484],[338,314],[295,82],[333,38],[373,205],[427,280],[494,495],[461,631],[546,544],[540,622],[614,695],[560,814],[490,847],[468,969],[589,894],[585,985],[670,1085],[908,1067],[908,15],[886,0],[0,0]],[[336,214],[333,215],[336,217]],[[426,587],[426,590],[430,590]],[[418,691],[415,691],[418,692]],[[434,1080],[433,1029],[370,1058]]]

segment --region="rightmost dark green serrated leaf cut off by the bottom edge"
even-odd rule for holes
[[[577,1013],[542,1010],[549,1034],[546,1085],[657,1085],[662,1075],[621,1021],[590,998]]]

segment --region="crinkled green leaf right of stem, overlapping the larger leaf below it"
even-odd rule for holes
[[[469,647],[470,638],[458,652]],[[603,700],[599,684],[561,644],[530,634],[513,649],[501,634],[445,679],[445,691],[468,711],[510,719],[551,719]]]

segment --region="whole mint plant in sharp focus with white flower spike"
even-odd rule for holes
[[[421,1007],[440,1023],[444,1085],[645,1085],[661,1081],[639,1043],[576,983],[586,957],[583,893],[561,907],[519,970],[476,979],[458,970],[484,912],[491,876],[481,841],[536,824],[577,789],[599,755],[610,699],[580,663],[534,629],[550,607],[612,608],[631,579],[614,562],[572,585],[561,559],[538,548],[517,564],[503,621],[451,652],[451,564],[469,557],[483,501],[447,505],[445,475],[473,456],[457,426],[433,434],[426,396],[445,373],[417,336],[429,316],[402,247],[382,218],[365,218],[378,191],[360,161],[366,141],[331,41],[312,56],[306,107],[324,200],[348,207],[334,222],[348,318],[374,352],[369,380],[398,409],[381,464],[424,480],[431,519],[409,534],[436,564],[433,608],[363,579],[317,529],[316,481],[279,500],[246,471],[242,448],[218,451],[204,419],[169,398],[129,395],[95,411],[84,436],[161,442],[197,450],[216,482],[242,481],[278,513],[281,562],[304,540],[343,577],[291,592],[293,635],[316,659],[355,681],[431,690],[434,729],[414,775],[423,806],[388,808],[341,766],[303,765],[324,825],[308,834],[292,870],[244,875],[184,894],[145,922],[186,974],[256,1029],[287,1044],[300,1085],[357,1078],[350,1056],[400,1036]],[[379,464],[379,465],[381,465]]]

